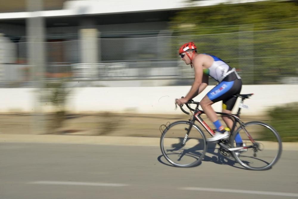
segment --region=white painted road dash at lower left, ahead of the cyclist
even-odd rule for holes
[[[72,182],[72,181],[34,181],[27,184],[48,184],[48,185],[80,185],[80,186],[129,186],[128,184],[117,183],[93,183],[93,182]]]

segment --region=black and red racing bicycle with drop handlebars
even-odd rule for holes
[[[233,158],[241,166],[250,170],[266,170],[278,161],[282,153],[282,142],[278,132],[261,121],[244,123],[240,120],[240,112],[246,105],[244,100],[252,94],[234,95],[241,98],[237,114],[216,112],[221,116],[233,120],[230,136],[226,140],[217,141],[219,152],[226,158]],[[211,136],[215,130],[211,129],[202,119],[204,111],[199,109],[199,102],[190,100],[186,103],[190,112],[180,107],[181,110],[191,115],[188,121],[176,121],[171,124],[161,125],[162,133],[160,148],[164,158],[177,167],[192,167],[201,163],[207,151],[207,142],[203,127]],[[192,108],[191,106],[196,106]],[[198,121],[199,125],[195,124]],[[235,143],[235,137],[240,135],[243,144]]]

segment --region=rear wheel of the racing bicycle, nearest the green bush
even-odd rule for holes
[[[252,139],[245,133],[245,130]],[[271,169],[282,152],[282,142],[277,131],[260,121],[245,123],[244,127],[239,127],[231,136],[232,148],[239,147],[235,143],[237,132],[248,149],[232,151],[236,161],[251,170]]]

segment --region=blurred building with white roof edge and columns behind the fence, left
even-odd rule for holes
[[[202,0],[192,1],[191,5],[252,1]],[[167,54],[172,39],[170,18],[189,5],[181,0],[44,0],[43,11],[38,14],[45,21],[46,77],[85,80],[188,77],[187,73],[179,76],[179,59]],[[32,13],[27,10],[26,0],[1,4],[0,63],[4,64],[1,81],[30,79],[26,24]]]

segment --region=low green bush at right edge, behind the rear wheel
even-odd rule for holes
[[[275,107],[267,114],[271,120],[268,123],[277,130],[283,142],[298,141],[298,102]]]

